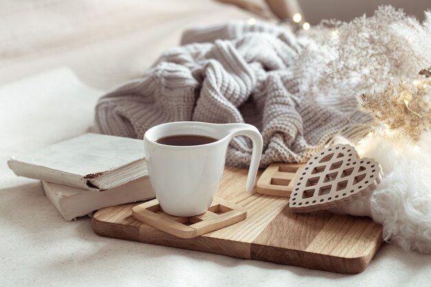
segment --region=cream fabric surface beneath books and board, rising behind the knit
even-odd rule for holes
[[[1,2],[0,39],[8,39],[8,45],[0,45],[0,83],[70,65],[82,81],[106,89],[148,67],[162,50],[178,43],[186,25],[249,17],[235,8],[201,0],[124,2],[127,5],[120,1],[96,5],[101,2],[90,0]],[[160,9],[149,9],[155,6]],[[129,17],[112,14],[120,8]],[[36,13],[32,17],[37,16],[34,23],[22,20],[30,10]],[[172,10],[178,17],[167,13]],[[72,34],[81,33],[76,39],[86,43],[74,43],[73,37],[59,39],[50,30],[59,23],[88,21],[95,15],[100,26],[74,31],[76,26],[70,25]],[[147,22],[139,21],[145,17]],[[41,26],[34,26],[33,31],[39,32],[24,33],[41,22],[51,25],[40,30]],[[114,23],[121,23],[123,32],[109,34]],[[92,33],[101,35],[93,41]],[[44,39],[50,42],[40,44]],[[83,134],[92,125],[98,92],[84,90],[78,81],[63,83],[61,75],[67,75],[67,70],[56,74],[52,85],[41,84],[39,77],[0,89],[0,286],[429,285],[430,255],[401,251],[390,244],[383,245],[363,273],[339,275],[99,237],[88,217],[65,222],[43,195],[40,182],[17,178],[6,164],[12,153]],[[82,94],[65,92],[77,86]],[[84,94],[92,96],[84,100]]]

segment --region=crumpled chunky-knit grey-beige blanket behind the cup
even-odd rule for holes
[[[104,134],[143,138],[160,123],[250,123],[262,133],[261,167],[304,162],[341,129],[368,120],[357,104],[324,105],[299,89],[295,62],[304,47],[276,25],[231,22],[187,30],[142,78],[103,96],[96,123]],[[246,167],[251,141],[234,138],[227,164]]]

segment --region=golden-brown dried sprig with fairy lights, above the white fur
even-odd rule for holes
[[[362,94],[361,105],[379,122],[419,140],[431,129],[431,79],[390,81],[377,92]]]

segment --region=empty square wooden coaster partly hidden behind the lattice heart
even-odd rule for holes
[[[270,164],[257,181],[257,193],[290,197],[293,182],[303,166],[303,163]]]

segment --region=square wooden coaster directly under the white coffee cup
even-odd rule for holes
[[[132,215],[136,220],[181,238],[193,238],[244,220],[246,210],[215,198],[208,211],[192,217],[176,217],[162,211],[158,200],[134,206]]]

